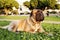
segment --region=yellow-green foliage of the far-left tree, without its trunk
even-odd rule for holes
[[[0,8],[12,8],[19,7],[19,4],[15,0],[0,0]]]

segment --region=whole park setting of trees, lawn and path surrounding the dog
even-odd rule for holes
[[[42,27],[53,36],[0,29],[0,40],[60,40],[60,0],[0,0],[0,27],[28,18],[35,8],[43,10]]]

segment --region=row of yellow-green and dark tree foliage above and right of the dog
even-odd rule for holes
[[[31,0],[28,3],[25,2],[24,5],[26,5],[30,9],[34,8],[45,9],[45,7],[54,9],[56,5],[56,0]]]

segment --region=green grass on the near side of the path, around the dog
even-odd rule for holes
[[[0,21],[0,26],[5,26],[9,23],[10,21]],[[16,34],[8,30],[0,29],[0,40],[60,40],[60,24],[42,23],[42,26],[45,31],[51,32],[53,36],[48,36],[44,33],[31,34],[27,32]]]

